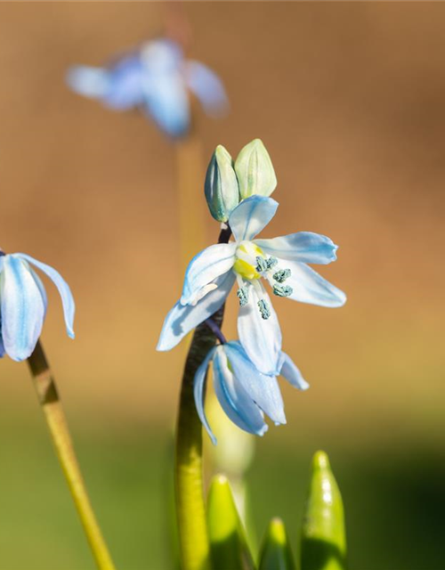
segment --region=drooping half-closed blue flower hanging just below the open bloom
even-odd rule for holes
[[[213,362],[214,369],[214,392],[223,411],[234,424],[250,434],[263,436],[268,428],[264,414],[275,425],[286,423],[283,400],[275,376],[258,371],[240,343],[231,341],[212,348],[199,366],[194,380],[198,416],[214,444],[216,438],[204,411],[206,374],[210,362]],[[309,387],[287,354],[279,355],[279,373],[300,390]]]

